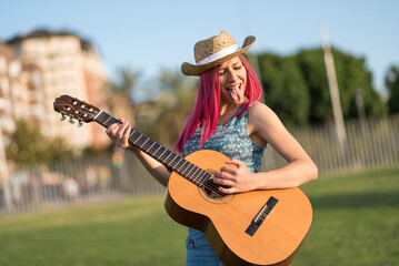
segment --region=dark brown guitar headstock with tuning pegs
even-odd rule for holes
[[[69,116],[69,122],[73,124],[73,119],[76,119],[79,122],[79,126],[82,125],[82,122],[88,123],[93,121],[100,112],[98,108],[69,95],[57,98],[53,105],[54,111],[61,113],[61,121]]]

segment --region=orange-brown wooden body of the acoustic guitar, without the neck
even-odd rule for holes
[[[186,160],[212,173],[219,172],[228,157],[203,150]],[[277,204],[253,235],[246,233],[270,197],[277,198]],[[203,232],[228,266],[288,265],[312,222],[310,202],[297,187],[218,197],[176,172],[169,180],[164,207],[176,222]]]

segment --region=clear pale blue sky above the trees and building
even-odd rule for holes
[[[162,68],[178,70],[193,62],[197,41],[221,30],[239,44],[256,35],[256,52],[290,54],[319,47],[321,23],[332,45],[366,58],[379,91],[388,68],[399,65],[397,0],[14,0],[0,7],[0,40],[38,28],[71,30],[98,48],[109,76],[119,66],[144,80]]]

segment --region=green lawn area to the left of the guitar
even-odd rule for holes
[[[181,265],[184,235],[161,196],[1,217],[0,265]]]

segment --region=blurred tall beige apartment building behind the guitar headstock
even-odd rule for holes
[[[44,136],[62,136],[77,149],[108,143],[100,125],[90,123],[77,129],[61,123],[61,115],[53,111],[54,99],[62,94],[99,108],[106,102],[106,68],[89,41],[69,31],[34,30],[7,43],[19,65],[19,90],[12,96],[19,105],[14,117],[32,120]]]

